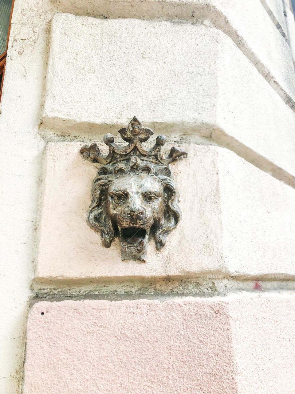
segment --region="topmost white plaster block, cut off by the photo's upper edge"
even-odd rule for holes
[[[276,19],[282,24],[283,29],[286,24],[281,7],[275,3],[280,1],[61,0],[59,10],[99,18],[182,20],[214,26],[232,39],[294,110],[292,55],[277,26]]]

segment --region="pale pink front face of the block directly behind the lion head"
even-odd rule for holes
[[[141,264],[123,262],[119,241],[116,239],[106,249],[100,236],[87,226],[96,168],[81,158],[80,148],[81,143],[50,143],[47,148],[37,277],[194,276],[196,267],[200,274],[225,269],[218,201],[208,197],[218,194],[217,179],[210,177],[216,162],[214,154],[204,157],[198,150],[191,150],[186,163],[177,162],[171,167],[182,189],[180,204],[186,219],[169,234],[162,251],[157,251],[151,241],[147,262]],[[203,182],[206,177],[212,181]],[[199,209],[193,209],[196,204]],[[207,228],[205,233],[203,226]],[[192,242],[191,234],[197,243]]]

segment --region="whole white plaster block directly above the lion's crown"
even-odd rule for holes
[[[155,132],[211,137],[295,185],[295,114],[220,30],[58,14],[51,37],[44,125],[89,136],[136,114]]]

